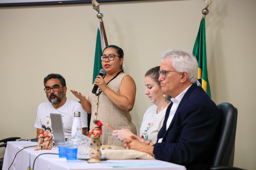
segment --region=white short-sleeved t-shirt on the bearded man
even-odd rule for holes
[[[59,113],[62,115],[65,138],[71,136],[72,124],[74,121],[74,113],[81,112],[82,128],[88,128],[87,113],[81,107],[79,102],[67,98],[64,105],[55,109],[50,102],[41,103],[37,108],[37,117],[34,127],[42,128],[42,125],[52,128],[50,113]]]

